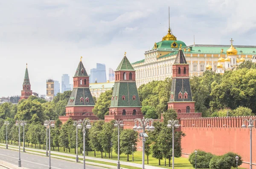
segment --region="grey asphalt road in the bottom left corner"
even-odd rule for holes
[[[28,169],[49,169],[49,157],[44,157],[40,155],[32,155],[22,152],[20,149],[20,160],[21,166]],[[6,161],[18,165],[19,152],[9,149],[0,149],[0,160]],[[51,168],[52,169],[83,169],[83,164],[73,163],[58,159],[51,158]],[[99,169],[94,166],[87,166],[85,159],[86,169]]]

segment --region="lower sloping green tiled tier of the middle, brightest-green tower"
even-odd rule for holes
[[[125,96],[125,100],[122,100]],[[135,100],[132,97],[135,96]],[[110,107],[140,107],[136,82],[115,82]]]

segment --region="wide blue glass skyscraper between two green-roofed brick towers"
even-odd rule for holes
[[[96,68],[90,70],[90,83],[94,83],[96,79],[98,83],[107,82],[105,64],[96,63]]]

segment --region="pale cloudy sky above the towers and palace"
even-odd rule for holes
[[[88,74],[96,63],[115,70],[124,52],[130,62],[168,31],[186,45],[256,45],[253,0],[2,0],[0,97],[20,95],[28,64],[33,92],[46,80],[70,82],[83,56]],[[107,76],[108,78],[108,76]]]

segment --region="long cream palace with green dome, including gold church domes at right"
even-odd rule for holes
[[[256,46],[234,45],[189,45],[177,40],[170,28],[162,41],[155,42],[153,48],[145,51],[145,59],[132,63],[136,70],[137,87],[153,80],[172,77],[172,65],[181,48],[189,64],[189,75],[199,76],[205,70],[216,73],[235,70],[244,60],[256,56]]]

